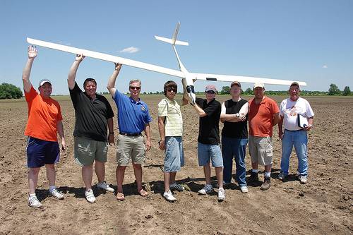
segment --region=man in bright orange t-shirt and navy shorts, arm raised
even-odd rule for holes
[[[36,56],[37,49],[33,46],[28,47],[28,61],[22,74],[23,90],[25,90],[25,100],[28,104],[28,123],[25,128],[25,135],[28,135],[27,167],[30,168],[28,173],[30,186],[28,205],[34,208],[42,206],[35,195],[35,188],[37,188],[40,168],[44,165],[47,168],[49,195],[56,199],[64,198],[55,188],[54,164],[59,162],[60,155],[56,133],[60,135],[62,150],[66,149],[60,105],[50,97],[53,90],[52,82],[47,79],[40,80],[38,87],[40,94],[30,83],[30,71]]]

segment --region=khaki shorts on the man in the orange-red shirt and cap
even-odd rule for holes
[[[261,166],[272,164],[272,137],[270,135],[267,135],[267,137],[249,135],[249,154],[251,162],[258,161]]]

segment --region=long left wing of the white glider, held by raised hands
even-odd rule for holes
[[[27,37],[27,42],[30,44],[35,44],[40,47],[47,47],[50,49],[56,49],[56,50],[59,50],[62,52],[69,52],[69,53],[73,53],[73,54],[83,54],[84,56],[88,56],[88,57],[95,58],[95,59],[101,59],[103,61],[120,63],[120,64],[124,64],[126,66],[131,66],[131,67],[135,67],[135,68],[142,68],[142,69],[154,71],[157,73],[164,73],[164,74],[167,74],[170,76],[185,78],[184,73],[182,73],[181,71],[177,71],[177,70],[174,70],[171,68],[164,68],[161,66],[155,66],[152,64],[147,64],[147,63],[143,63],[143,62],[139,62],[139,61],[133,61],[131,59],[125,59],[125,58],[121,58],[119,56],[112,56],[112,55],[104,54],[104,53],[100,53],[100,52],[92,52],[92,51],[88,51],[88,50],[80,49],[80,48],[76,48],[76,47],[68,47],[68,46],[64,46],[64,45],[56,44],[56,43],[52,43],[52,42],[44,42],[44,41],[29,38],[29,37]]]

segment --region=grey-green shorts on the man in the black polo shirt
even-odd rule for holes
[[[107,142],[90,140],[78,136],[75,136],[73,140],[76,164],[81,167],[90,167],[94,160],[102,163],[107,162]]]

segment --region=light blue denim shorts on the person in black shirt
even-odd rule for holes
[[[223,167],[223,157],[220,145],[204,145],[198,142],[198,165],[203,167],[210,164],[213,167]]]

